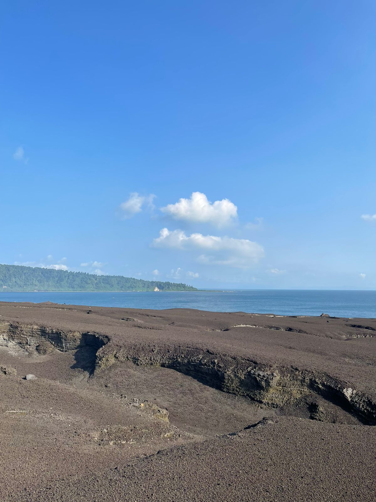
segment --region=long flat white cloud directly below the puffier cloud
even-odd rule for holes
[[[170,231],[162,228],[159,237],[153,240],[156,247],[170,247],[177,249],[199,249],[210,255],[203,254],[199,261],[214,265],[228,265],[230,267],[248,268],[264,256],[264,249],[257,242],[233,237],[217,237],[192,233],[185,235],[183,230]]]

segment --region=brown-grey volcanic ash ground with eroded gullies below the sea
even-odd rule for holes
[[[376,499],[374,319],[0,303],[0,345],[1,500]]]

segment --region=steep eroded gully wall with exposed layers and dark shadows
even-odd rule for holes
[[[23,349],[34,355],[46,355],[54,349],[74,350],[76,363],[72,368],[80,367],[94,377],[121,361],[169,368],[224,393],[248,398],[264,408],[285,409],[282,413],[286,415],[291,414],[289,406],[300,401],[305,403],[309,418],[330,421],[320,405],[327,402],[361,424],[376,425],[376,403],[369,397],[346,388],[326,374],[312,374],[298,368],[271,369],[251,359],[232,358],[194,347],[163,344],[112,347],[104,335],[21,323],[0,324],[0,346]]]

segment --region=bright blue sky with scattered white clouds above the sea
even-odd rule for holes
[[[3,2],[0,263],[375,289],[375,15]]]

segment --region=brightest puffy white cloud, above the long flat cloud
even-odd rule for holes
[[[211,223],[221,227],[238,217],[238,208],[229,199],[216,200],[213,204],[201,192],[193,192],[190,199],[179,199],[175,204],[161,207],[161,211],[176,220]]]

